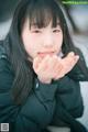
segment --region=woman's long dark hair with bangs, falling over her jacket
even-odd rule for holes
[[[35,76],[32,63],[28,61],[29,55],[24,50],[21,38],[21,30],[26,18],[30,19],[29,26],[35,22],[38,28],[46,26],[51,20],[53,21],[53,26],[56,26],[57,20],[59,20],[64,34],[63,53],[64,55],[70,51],[76,53],[61,4],[56,0],[21,0],[15,9],[9,32],[8,54],[14,70],[12,94],[18,105],[22,105],[29,94],[32,92]]]

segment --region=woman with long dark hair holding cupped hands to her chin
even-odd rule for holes
[[[79,80],[88,80],[88,69],[61,4],[22,0],[0,45],[0,122],[11,132],[43,132],[48,125],[85,132],[75,120],[84,110]]]

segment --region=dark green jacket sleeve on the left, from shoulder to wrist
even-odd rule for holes
[[[53,114],[50,111],[54,109],[55,89],[44,90],[47,87],[40,82],[41,88],[34,89],[23,106],[16,106],[11,95],[12,81],[13,75],[9,63],[4,57],[1,57],[0,123],[9,123],[10,132],[41,132],[41,129],[48,124],[51,114]],[[47,92],[51,92],[52,96],[48,97]]]

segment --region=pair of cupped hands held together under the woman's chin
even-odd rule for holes
[[[78,62],[79,56],[70,52],[65,58],[56,55],[46,55],[44,58],[37,56],[33,61],[33,69],[38,79],[43,82],[51,82],[52,79],[64,77]]]

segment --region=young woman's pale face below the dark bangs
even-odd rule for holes
[[[59,23],[56,28],[52,28],[52,22],[45,28],[38,29],[37,25],[29,26],[29,20],[22,29],[22,41],[28,54],[33,58],[37,55],[57,55],[61,52],[63,44],[63,31]]]

